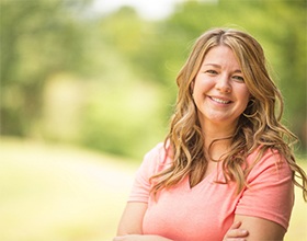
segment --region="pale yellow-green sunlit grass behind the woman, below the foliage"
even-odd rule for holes
[[[112,240],[135,163],[76,148],[0,141],[0,240]],[[307,240],[307,206],[296,193],[288,241]]]

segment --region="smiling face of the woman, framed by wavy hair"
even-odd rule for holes
[[[193,82],[193,97],[202,126],[235,129],[246,110],[250,92],[231,48],[213,47]]]

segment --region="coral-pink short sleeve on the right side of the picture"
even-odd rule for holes
[[[236,214],[268,219],[287,230],[294,205],[292,176],[288,163],[278,153],[268,151],[248,175],[249,186]]]

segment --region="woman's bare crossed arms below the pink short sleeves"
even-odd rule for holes
[[[145,203],[128,203],[118,225],[117,237],[113,241],[170,241],[164,237],[143,234],[141,223],[146,209]],[[273,221],[236,215],[224,241],[283,240],[284,234],[284,228]]]

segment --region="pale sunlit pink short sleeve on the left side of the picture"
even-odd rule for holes
[[[148,203],[151,190],[150,177],[163,165],[166,159],[163,149],[163,144],[159,144],[145,154],[136,172],[128,202]]]

